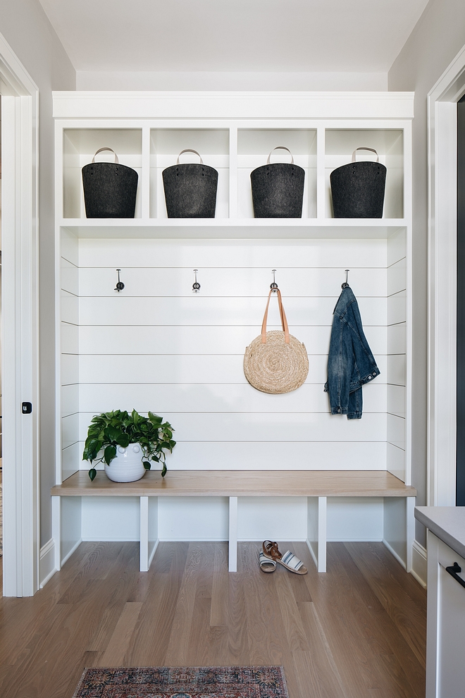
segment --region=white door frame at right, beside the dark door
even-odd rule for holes
[[[457,102],[465,47],[428,94],[428,506],[455,506]]]

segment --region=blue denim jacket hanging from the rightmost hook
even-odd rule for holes
[[[349,286],[342,289],[333,316],[325,392],[329,393],[332,415],[360,420],[361,386],[376,378],[380,369],[366,341],[359,305]]]

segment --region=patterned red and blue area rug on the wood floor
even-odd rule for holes
[[[281,666],[85,669],[73,698],[289,698]]]

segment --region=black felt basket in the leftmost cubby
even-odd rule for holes
[[[95,162],[95,155],[110,150],[114,162]],[[85,214],[87,218],[134,218],[137,172],[121,165],[111,148],[100,148],[92,162],[82,168]]]

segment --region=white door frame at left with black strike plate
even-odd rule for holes
[[[37,86],[0,35],[4,596],[39,579]],[[32,414],[23,415],[23,401]]]

